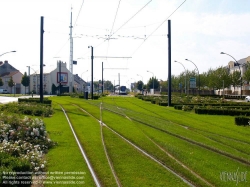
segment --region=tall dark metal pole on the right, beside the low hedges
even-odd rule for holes
[[[171,20],[168,20],[168,106],[171,106]]]

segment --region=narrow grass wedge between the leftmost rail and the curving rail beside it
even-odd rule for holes
[[[102,186],[115,186],[116,183],[103,150],[99,123],[72,104],[63,105],[63,107]]]

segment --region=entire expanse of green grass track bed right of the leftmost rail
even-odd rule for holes
[[[241,172],[249,172],[250,170],[249,165],[202,147],[204,145],[249,161],[250,128],[236,126],[234,118],[231,116],[196,115],[193,112],[162,107],[137,98],[105,97],[95,101],[69,97],[51,99],[53,102],[60,102],[66,108],[83,147],[86,149],[99,178],[106,186],[113,186],[114,179],[103,153],[99,123],[69,103],[76,104],[99,119],[99,104],[103,102],[104,107],[142,121],[143,123],[131,121],[103,110],[102,118],[105,124],[197,186],[205,186],[206,184],[165,152],[174,156],[214,186],[236,185],[233,181],[221,181],[220,173],[223,171],[236,172],[239,169]],[[152,181],[159,181],[157,185],[153,186],[185,185],[176,177],[171,176],[169,172],[165,171],[163,174],[161,166],[146,158],[106,128],[104,128],[104,139],[108,154],[123,186],[131,186],[132,184],[132,186],[150,186],[153,184]],[[165,152],[160,150],[154,142],[161,146]],[[107,173],[107,178],[105,178],[107,175],[105,176],[104,173]],[[165,183],[166,177],[169,183]],[[245,186],[246,183],[238,183],[237,185]]]

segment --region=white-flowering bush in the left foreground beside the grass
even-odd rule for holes
[[[44,171],[44,154],[54,145],[42,120],[0,115],[0,153],[28,161],[33,171]]]

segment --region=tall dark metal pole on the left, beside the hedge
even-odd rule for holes
[[[40,103],[43,103],[43,16],[40,29]]]

